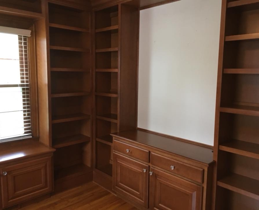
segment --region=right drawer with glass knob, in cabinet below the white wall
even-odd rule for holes
[[[197,168],[192,165],[188,165],[183,162],[173,160],[168,157],[163,157],[159,154],[151,153],[150,163],[152,165],[158,166],[165,169],[171,173],[175,173],[191,179],[193,181],[203,183],[204,170]]]

